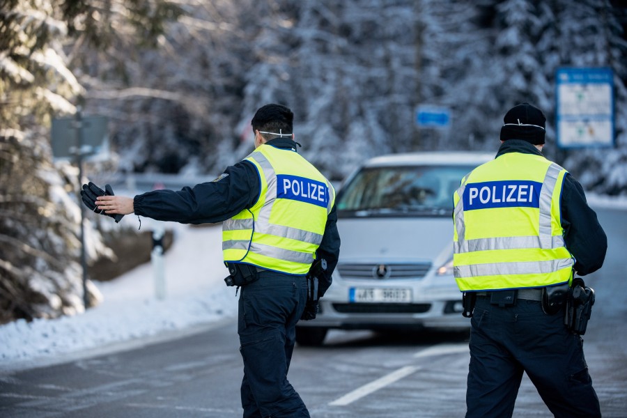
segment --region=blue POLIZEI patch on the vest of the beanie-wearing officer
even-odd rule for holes
[[[464,210],[539,208],[542,183],[529,180],[469,183],[464,189]]]

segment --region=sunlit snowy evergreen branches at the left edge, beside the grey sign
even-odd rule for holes
[[[49,146],[52,116],[75,113],[85,93],[68,69],[63,41],[106,45],[116,35],[112,15],[123,16],[123,31],[134,28],[141,31],[136,39],[149,40],[169,10],[175,8],[158,2],[0,3],[0,323],[84,309],[77,172],[55,166]],[[97,236],[89,242],[89,255],[107,254]],[[97,289],[87,288],[98,299]]]

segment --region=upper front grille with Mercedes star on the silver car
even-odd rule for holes
[[[417,279],[424,277],[429,269],[431,269],[431,263],[343,263],[337,265],[339,274],[346,279]]]

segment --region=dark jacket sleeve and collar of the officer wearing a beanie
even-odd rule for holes
[[[521,139],[505,141],[496,157],[506,153],[542,155],[538,148]],[[575,271],[581,276],[595,272],[605,260],[607,236],[598,223],[596,212],[586,202],[583,187],[571,174],[564,178],[560,206],[564,240],[566,248],[575,257]]]

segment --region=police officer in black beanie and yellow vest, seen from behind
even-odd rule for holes
[[[601,417],[563,302],[575,272],[601,268],[607,238],[544,138],[542,111],[513,107],[495,160],[454,194],[454,274],[474,302],[466,417],[511,417],[523,371],[555,417]]]

